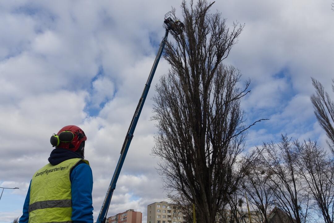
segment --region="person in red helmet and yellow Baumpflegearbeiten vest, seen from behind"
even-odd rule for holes
[[[93,175],[83,159],[86,140],[75,125],[51,136],[55,149],[32,176],[19,223],[93,223]]]

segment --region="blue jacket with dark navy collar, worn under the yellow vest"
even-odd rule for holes
[[[52,150],[49,162],[57,165],[62,161],[72,158],[82,158],[78,153],[67,149],[56,148]],[[92,223],[93,222],[93,175],[89,165],[80,161],[70,172],[71,193],[72,193],[72,221],[73,223]],[[31,184],[31,181],[30,181]],[[30,185],[23,205],[23,215],[19,223],[28,223],[29,221],[29,200]]]

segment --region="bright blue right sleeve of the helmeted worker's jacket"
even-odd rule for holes
[[[93,174],[86,163],[74,167],[70,175],[73,223],[93,223]]]

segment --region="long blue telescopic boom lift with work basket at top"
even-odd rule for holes
[[[139,99],[139,102],[138,102],[135,114],[132,117],[132,120],[131,120],[131,123],[130,123],[130,127],[129,127],[128,132],[127,132],[127,134],[125,136],[125,140],[124,140],[124,143],[123,143],[123,146],[122,146],[122,149],[121,149],[121,155],[120,155],[120,158],[118,159],[117,166],[116,166],[113,178],[112,178],[112,180],[110,182],[110,185],[109,185],[106,197],[105,197],[105,199],[103,201],[100,214],[99,214],[98,219],[96,221],[97,223],[105,223],[106,222],[107,213],[108,213],[108,209],[109,209],[109,205],[110,205],[110,200],[111,200],[111,198],[113,196],[113,193],[114,193],[114,190],[116,188],[116,183],[117,183],[118,177],[119,177],[119,175],[121,173],[121,169],[122,169],[122,166],[123,166],[123,163],[124,163],[124,160],[125,160],[125,156],[126,156],[126,154],[128,152],[131,140],[133,138],[133,133],[135,131],[135,128],[136,128],[136,125],[137,125],[140,113],[141,113],[142,108],[144,106],[145,99],[146,99],[148,91],[150,89],[151,82],[152,82],[155,70],[157,69],[157,66],[158,66],[161,54],[162,54],[163,49],[165,47],[165,43],[166,43],[166,40],[167,40],[168,32],[172,32],[174,35],[179,35],[179,34],[182,33],[182,31],[184,29],[183,23],[180,22],[172,14],[172,12],[168,12],[168,13],[165,14],[164,24],[165,24],[164,27],[166,28],[165,36],[164,36],[164,38],[162,39],[162,41],[160,43],[158,54],[157,54],[157,56],[155,58],[155,61],[154,61],[154,64],[152,66],[150,75],[148,76],[148,79],[146,81],[146,84],[145,84],[142,96]]]

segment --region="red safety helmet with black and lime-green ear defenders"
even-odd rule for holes
[[[81,142],[86,141],[85,132],[75,125],[67,125],[51,136],[50,142],[53,146],[71,151],[78,150]]]

